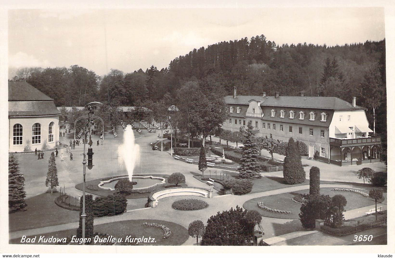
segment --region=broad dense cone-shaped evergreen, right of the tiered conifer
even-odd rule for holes
[[[302,166],[299,144],[291,137],[285,151],[284,182],[286,184],[301,184],[305,182],[306,173]]]

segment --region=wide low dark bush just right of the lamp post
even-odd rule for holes
[[[127,200],[122,195],[97,197],[93,201],[92,212],[95,217],[119,215],[126,211]]]

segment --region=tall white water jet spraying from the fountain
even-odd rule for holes
[[[134,143],[134,133],[130,124],[126,126],[124,143],[119,146],[118,154],[118,163],[120,166],[125,164],[129,181],[132,182],[134,167],[140,160],[140,146]]]

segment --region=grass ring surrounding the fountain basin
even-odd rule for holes
[[[99,196],[112,195],[112,194],[116,193],[116,191],[102,189],[102,188],[99,188],[97,186],[98,186],[98,184],[100,184],[101,181],[109,180],[111,178],[116,178],[116,177],[121,177],[121,176],[127,176],[127,175],[111,176],[111,177],[98,178],[98,179],[87,181],[87,182],[85,182],[85,191],[88,192],[88,193],[92,193],[94,195],[99,195]],[[137,175],[136,174],[136,176],[147,176],[147,174],[145,174],[145,175]],[[152,174],[152,176],[160,176],[160,177],[165,178],[166,179],[166,184],[162,184],[162,185],[159,185],[159,186],[148,188],[147,190],[150,190],[150,192],[156,192],[158,190],[166,189],[169,186],[175,186],[173,184],[167,183],[167,178],[169,177],[169,175],[167,175],[167,174]],[[89,185],[92,185],[92,186],[96,187],[97,190],[88,189]],[[178,186],[187,186],[187,185],[185,183],[181,183],[181,184],[178,184]],[[75,188],[77,188],[77,189],[82,191],[83,190],[82,183],[77,184],[75,186]],[[126,199],[147,198],[148,195],[150,194],[150,192],[147,192],[147,193],[131,193],[130,195],[126,195],[125,197],[126,197]]]

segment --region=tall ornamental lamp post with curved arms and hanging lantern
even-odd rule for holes
[[[88,118],[88,122],[87,122],[87,124],[85,125],[85,128],[84,128],[84,152],[83,152],[83,161],[82,161],[82,164],[83,164],[83,186],[82,186],[83,194],[82,194],[81,219],[82,219],[82,238],[83,239],[85,239],[85,219],[87,217],[87,214],[85,213],[85,175],[86,175],[86,167],[88,167],[88,169],[92,169],[92,167],[94,166],[93,165],[93,154],[94,154],[94,152],[92,150],[92,137],[91,137],[91,134],[90,134],[90,127],[91,127],[90,119],[91,118],[97,118],[97,119],[100,119],[102,121],[102,124],[103,124],[103,139],[104,139],[104,123],[103,123],[103,120],[100,117],[94,115],[94,104],[93,103],[94,102],[91,102],[91,103],[87,104],[87,106],[85,106],[88,109],[88,115],[84,115],[84,116],[79,117],[79,118],[77,118],[75,120],[75,123],[77,123],[77,121],[80,120],[80,119],[83,119],[83,118],[86,118],[86,117]],[[86,154],[85,154],[85,148],[86,148],[88,134],[89,134],[89,143],[88,143],[89,144],[89,148],[88,148],[88,152],[87,152],[87,154],[88,154],[88,166],[87,166],[86,165],[87,164],[87,159],[86,159]],[[85,245],[84,241],[82,242],[82,244]]]

